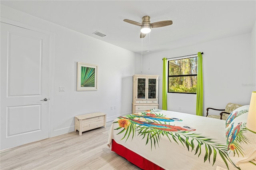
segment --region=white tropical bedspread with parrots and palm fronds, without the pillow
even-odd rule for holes
[[[228,157],[225,121],[151,110],[118,117],[108,145],[118,144],[166,169],[237,169]]]

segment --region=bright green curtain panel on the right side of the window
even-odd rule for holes
[[[203,116],[203,69],[202,69],[202,54],[198,52],[198,70],[197,70],[197,88],[196,88],[196,115]]]

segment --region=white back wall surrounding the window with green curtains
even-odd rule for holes
[[[255,89],[252,86],[255,83],[252,77],[256,76],[253,66],[255,55],[252,55],[251,39],[252,34],[248,33],[144,55],[142,73],[160,75],[160,108],[162,108],[162,58],[197,54],[198,51],[204,52],[204,115],[206,115],[207,107],[222,109],[229,102],[249,104],[252,90]],[[141,59],[136,59],[137,65],[140,61]],[[140,68],[136,68],[136,73],[141,73]],[[168,93],[167,100],[168,110],[196,114],[196,95],[194,94]],[[218,112],[213,114],[218,114]]]

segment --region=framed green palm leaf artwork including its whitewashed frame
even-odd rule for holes
[[[98,65],[77,63],[77,91],[98,90]]]

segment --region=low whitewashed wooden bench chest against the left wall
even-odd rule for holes
[[[75,132],[78,130],[79,135],[82,135],[82,132],[99,127],[106,128],[105,113],[96,112],[75,117]]]

